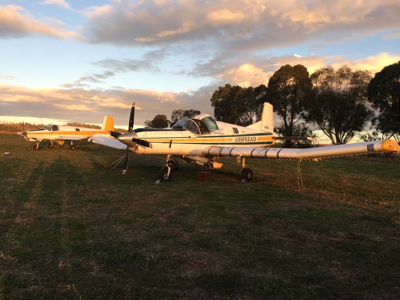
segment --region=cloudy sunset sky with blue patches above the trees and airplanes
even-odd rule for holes
[[[0,0],[0,123],[127,128],[213,115],[219,86],[268,85],[285,64],[400,60],[398,0]]]

